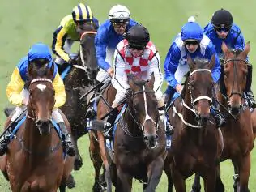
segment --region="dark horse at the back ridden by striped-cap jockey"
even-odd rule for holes
[[[87,111],[87,97],[84,92],[88,92],[96,83],[98,72],[96,62],[96,51],[94,38],[96,30],[93,26],[88,26],[81,34],[80,51],[77,65],[73,66],[69,74],[64,79],[66,89],[66,104],[62,106],[71,126],[72,139],[75,144],[75,170],[79,170],[83,165],[82,157],[79,154],[77,140],[87,133],[85,114]]]

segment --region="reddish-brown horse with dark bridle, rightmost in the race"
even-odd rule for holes
[[[247,55],[250,52],[250,43],[242,50],[230,50],[227,45],[222,44],[224,53],[224,65],[222,80],[220,79],[220,90],[218,100],[222,105],[221,112],[226,117],[226,124],[221,127],[224,137],[224,151],[221,154],[221,161],[231,159],[235,175],[234,191],[248,192],[250,176],[250,152],[254,147],[255,117],[250,113],[244,91],[246,90]],[[254,127],[253,127],[254,126]],[[253,129],[254,128],[254,129]],[[254,130],[254,131],[253,131]],[[220,168],[219,168],[220,169]],[[194,181],[194,191],[199,191],[199,177]],[[224,184],[218,172],[216,186],[224,191]]]

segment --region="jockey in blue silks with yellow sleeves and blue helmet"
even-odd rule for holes
[[[11,117],[11,122],[14,122],[28,105],[29,93],[28,89],[24,87],[28,83],[28,65],[37,65],[38,67],[47,65],[48,67],[54,65],[53,87],[55,90],[55,105],[52,113],[53,120],[57,122],[59,128],[62,130],[63,150],[69,156],[75,156],[75,148],[71,142],[70,134],[66,130],[66,126],[62,115],[58,112],[58,107],[64,105],[66,101],[66,93],[64,84],[60,75],[58,75],[57,66],[53,63],[49,47],[42,43],[32,45],[28,51],[28,56],[21,59],[19,64],[15,67],[11,75],[11,81],[6,87],[6,94],[11,104],[16,105],[15,113]],[[17,124],[12,125],[0,141],[0,156],[4,155],[8,149],[7,145],[11,142],[11,132],[15,129]]]

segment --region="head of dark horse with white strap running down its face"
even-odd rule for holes
[[[132,96],[128,101],[131,116],[143,133],[147,147],[153,149],[158,146],[159,112],[154,87],[154,75],[149,81],[141,80],[134,75],[128,75],[128,83]]]

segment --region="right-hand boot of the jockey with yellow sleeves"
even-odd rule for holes
[[[75,147],[71,141],[70,134],[66,130],[65,122],[59,122],[58,126],[62,130],[63,151],[69,156],[75,156]]]

